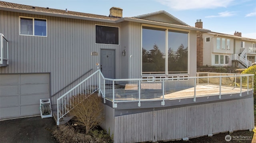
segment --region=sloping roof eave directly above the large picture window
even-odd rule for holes
[[[166,26],[166,27],[174,27],[174,28],[187,29],[187,30],[195,30],[195,31],[200,31],[202,33],[210,32],[210,30],[208,30],[208,29],[188,27],[188,26],[184,26],[184,25],[160,23],[160,22],[154,22],[154,21],[145,21],[145,20],[139,20],[139,19],[134,19],[134,18],[121,18],[119,20],[116,20],[116,23],[124,22],[124,21],[138,22],[138,23],[143,23],[143,24],[159,25],[159,26]]]

